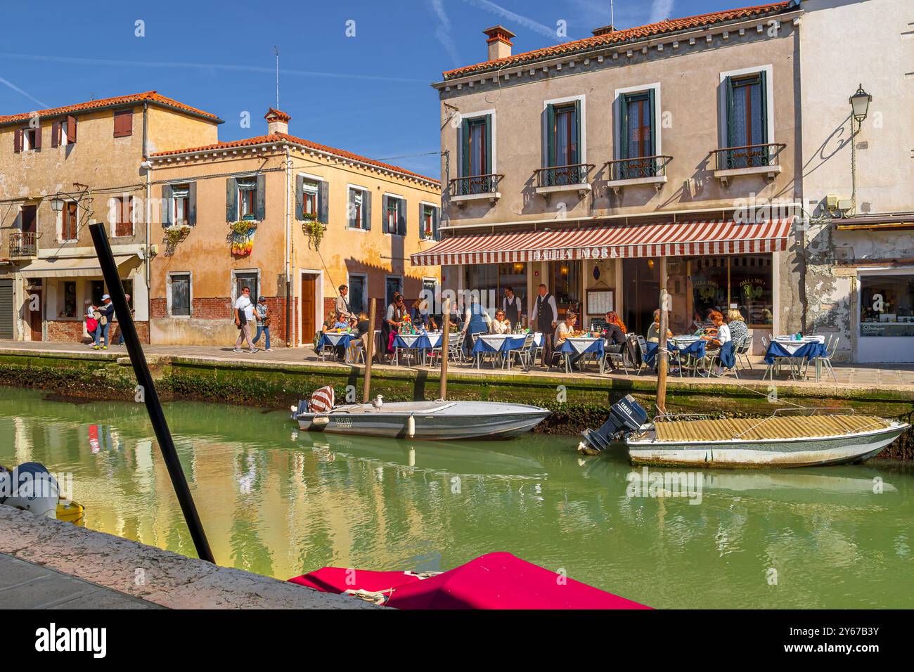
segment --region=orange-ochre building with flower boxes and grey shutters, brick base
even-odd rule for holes
[[[314,343],[342,284],[352,311],[377,300],[380,315],[394,292],[439,282],[437,266],[407,261],[438,240],[438,180],[290,135],[284,112],[265,118],[265,135],[150,155],[153,343],[231,345],[245,286],[266,297],[276,347]]]

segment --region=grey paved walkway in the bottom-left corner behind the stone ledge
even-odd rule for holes
[[[0,553],[4,609],[164,609],[27,560]]]

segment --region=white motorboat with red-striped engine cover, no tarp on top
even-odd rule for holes
[[[308,400],[292,420],[308,432],[360,434],[427,441],[505,439],[529,432],[551,411],[497,401],[381,401],[315,410]]]

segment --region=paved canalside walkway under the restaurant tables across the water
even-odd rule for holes
[[[62,342],[33,342],[33,341],[9,341],[9,340],[0,340],[0,353],[6,351],[22,351],[22,350],[31,350],[38,352],[66,352],[66,353],[80,353],[82,355],[90,357],[126,357],[127,349],[125,347],[112,346],[108,350],[93,350],[90,347],[83,346],[76,343],[62,343]],[[287,364],[291,366],[296,365],[306,365],[306,364],[325,364],[326,366],[331,367],[341,367],[347,368],[348,365],[337,364],[333,361],[324,362],[320,357],[314,354],[314,348],[310,346],[305,347],[277,347],[272,350],[272,352],[266,352],[260,350],[259,352],[250,354],[247,351],[243,353],[236,353],[232,351],[231,347],[216,347],[216,346],[143,346],[143,352],[148,356],[165,356],[165,357],[192,357],[206,360],[215,360],[215,361],[233,361],[233,362],[260,362],[260,363],[277,363],[277,364]],[[752,369],[740,369],[739,379],[741,381],[755,381],[756,383],[764,383],[765,385],[772,384],[770,380],[765,379],[762,381],[762,375],[764,374],[766,365],[762,360],[762,357],[750,357],[750,362]],[[395,367],[390,367],[388,365],[375,365],[373,369],[390,369]],[[400,366],[399,368],[416,368],[420,370],[429,370],[428,368],[423,367],[406,367]],[[486,375],[493,371],[491,364],[485,363],[482,369],[473,368],[473,366],[468,364],[458,364],[452,362],[450,364],[452,371],[460,371],[461,373],[467,373],[471,375]],[[584,376],[590,379],[599,379],[600,374],[597,373],[596,367],[591,365],[590,370],[585,373],[580,373],[575,371],[571,374],[566,374],[564,370],[551,369],[547,370],[542,367],[534,367],[532,370],[526,372],[519,368],[514,368],[511,371],[506,369],[495,368],[495,372],[499,374],[513,374],[516,376],[550,376],[550,377],[568,377],[568,378],[580,378]],[[836,383],[841,386],[850,385],[854,387],[896,387],[902,386],[909,388],[914,386],[914,363],[911,364],[834,364],[834,373],[837,378]],[[609,373],[605,374],[603,378],[618,378],[618,379],[633,379],[635,374],[632,372],[628,375],[624,373]],[[653,373],[644,372],[641,377],[642,379],[654,379]],[[679,381],[679,376],[672,374],[670,376],[670,382],[675,383]],[[721,382],[721,381],[734,381],[732,374],[727,374],[724,379],[717,378],[691,378],[685,377],[681,379],[684,382],[690,384],[703,384],[708,382]],[[816,383],[814,380],[814,370],[811,366],[807,372],[807,379],[805,381],[797,381],[789,378],[787,371],[782,371],[781,375],[774,379],[773,384],[799,384],[799,385],[810,385],[814,386],[817,384],[828,384],[834,385],[835,380],[823,370],[822,374],[822,383]]]

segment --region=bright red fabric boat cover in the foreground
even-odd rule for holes
[[[344,569],[325,567],[290,581],[323,592],[393,587],[386,606],[398,609],[650,609],[504,552],[423,580],[397,571],[359,570],[349,571],[347,584],[346,576]],[[402,581],[394,582],[398,577]]]

